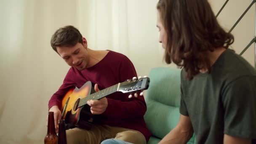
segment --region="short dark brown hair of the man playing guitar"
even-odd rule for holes
[[[56,47],[74,46],[77,43],[83,44],[83,36],[73,26],[61,27],[51,37],[51,47],[57,52]],[[58,52],[57,52],[58,53]]]

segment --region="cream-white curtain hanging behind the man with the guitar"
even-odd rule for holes
[[[59,27],[80,29],[89,48],[125,54],[138,75],[175,67],[163,62],[157,1],[0,0],[0,144],[43,143],[48,100],[69,69],[50,46]]]

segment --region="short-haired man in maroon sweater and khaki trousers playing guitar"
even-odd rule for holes
[[[137,76],[132,62],[126,56],[114,51],[95,51],[88,48],[86,39],[73,26],[59,28],[51,38],[51,46],[70,66],[63,84],[48,104],[49,111],[54,112],[56,126],[63,116],[61,102],[65,102],[64,96],[70,89],[83,88],[86,82],[91,81],[97,92]],[[90,94],[90,88],[88,91],[87,94]],[[75,103],[80,102],[79,100],[81,99],[77,99]],[[89,109],[87,113],[94,115],[93,124],[89,129],[78,124],[77,127],[68,129],[68,144],[99,144],[111,138],[134,144],[146,144],[148,141],[151,134],[144,122],[147,107],[143,96],[129,99],[128,94],[116,92],[98,100],[88,99],[86,103]],[[70,114],[74,114],[76,110],[72,108]],[[81,112],[76,118],[81,119],[85,114],[86,112]]]

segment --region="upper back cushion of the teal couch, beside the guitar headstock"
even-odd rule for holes
[[[170,67],[151,69],[146,99],[158,101],[168,106],[179,107],[181,95],[180,72],[181,69]]]

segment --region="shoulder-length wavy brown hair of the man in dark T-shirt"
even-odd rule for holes
[[[184,67],[189,80],[202,68],[211,71],[207,51],[227,49],[234,42],[207,0],[159,0],[157,10],[167,35],[165,62]]]

